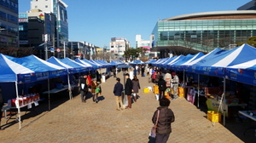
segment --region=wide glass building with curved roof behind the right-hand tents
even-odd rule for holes
[[[190,54],[209,52],[215,48],[230,49],[256,36],[256,11],[184,14],[159,20],[152,34],[152,47],[154,50],[165,50],[163,53],[166,49],[172,53],[172,49],[177,48]]]

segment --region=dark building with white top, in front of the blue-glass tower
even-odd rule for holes
[[[19,14],[20,47],[37,49],[37,56],[45,59],[50,48],[56,45],[55,14],[45,13],[40,9],[32,9]],[[45,43],[43,45],[43,43]]]

